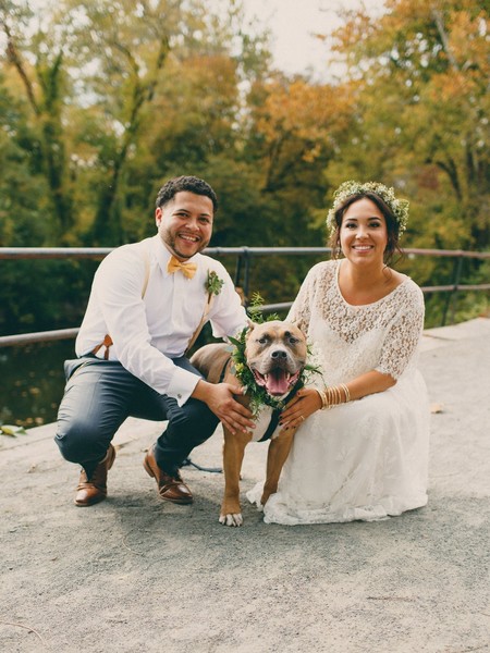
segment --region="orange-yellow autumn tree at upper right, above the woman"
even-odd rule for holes
[[[335,34],[357,125],[328,177],[336,183],[345,170],[378,176],[415,198],[426,246],[483,249],[490,243],[488,8],[476,0],[389,0],[385,9],[376,20],[351,12]],[[427,225],[434,212],[437,226]]]

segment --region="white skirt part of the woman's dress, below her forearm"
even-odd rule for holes
[[[268,523],[375,521],[427,503],[429,403],[419,372],[296,431]],[[264,483],[247,493],[259,505]]]

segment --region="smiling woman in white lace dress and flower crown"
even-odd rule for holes
[[[287,317],[326,385],[303,389],[282,412],[283,428],[301,427],[266,522],[372,521],[427,503],[424,297],[389,267],[407,217],[408,202],[382,184],[345,182],[334,194],[333,260],[309,271]]]

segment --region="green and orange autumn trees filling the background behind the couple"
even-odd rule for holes
[[[0,246],[138,241],[155,233],[162,182],[197,174],[220,199],[213,246],[323,245],[332,190],[357,178],[409,199],[402,245],[488,249],[488,8],[387,7],[344,12],[333,38],[348,75],[317,84],[271,69],[269,35],[238,0],[2,2]],[[317,260],[256,258],[249,288],[290,300]],[[399,269],[421,285],[453,278],[450,259]],[[91,262],[2,270],[4,332],[79,322]],[[477,280],[488,267],[468,263]],[[478,297],[449,315],[485,310]],[[429,321],[444,303],[428,296]]]

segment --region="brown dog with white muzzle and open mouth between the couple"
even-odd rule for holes
[[[297,383],[306,362],[306,338],[294,324],[273,320],[253,324],[246,334],[245,357],[256,383],[275,399],[286,398]],[[191,362],[211,383],[230,382],[234,378],[229,345],[205,345],[191,358]],[[221,378],[223,377],[223,378]],[[245,406],[247,395],[236,399]],[[221,505],[220,522],[225,526],[242,526],[240,508],[240,472],[246,445],[259,441],[268,431],[272,408],[264,406],[257,428],[253,432],[231,433],[223,427],[224,451],[224,497]],[[268,417],[268,419],[265,419]],[[264,422],[265,426],[264,426]],[[267,475],[260,500],[262,505],[278,489],[282,467],[290,453],[295,429],[281,431],[279,427],[271,434],[267,457]]]

